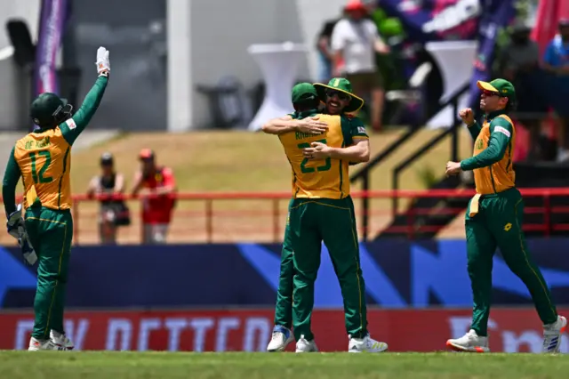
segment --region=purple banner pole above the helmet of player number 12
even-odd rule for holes
[[[42,0],[34,72],[34,97],[59,93],[56,58],[67,19],[68,0]]]

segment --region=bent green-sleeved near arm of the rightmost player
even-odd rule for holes
[[[488,141],[488,147],[477,156],[469,157],[461,161],[462,171],[487,167],[499,162],[501,158],[504,157],[504,154],[506,154],[512,133],[513,126],[509,121],[501,117],[494,118],[490,124],[490,141]]]

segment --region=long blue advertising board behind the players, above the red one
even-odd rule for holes
[[[569,304],[569,238],[531,239],[530,250],[559,304]],[[386,308],[470,307],[466,242],[380,240],[362,243],[367,300]],[[0,247],[0,306],[29,308],[34,269],[16,249]],[[72,251],[70,308],[272,306],[279,245],[81,246]],[[496,254],[494,304],[530,304],[524,284]],[[341,307],[341,292],[323,246],[316,306]]]

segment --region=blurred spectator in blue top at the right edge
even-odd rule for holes
[[[543,58],[544,68],[552,75],[549,78],[549,103],[557,115],[557,160],[569,158],[569,20],[560,20],[559,34],[549,43]]]

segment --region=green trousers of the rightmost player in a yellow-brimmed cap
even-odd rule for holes
[[[469,206],[470,209],[470,206]],[[480,199],[478,214],[466,216],[468,270],[474,300],[472,329],[488,335],[492,296],[492,265],[496,247],[509,269],[522,279],[543,324],[557,320],[557,310],[541,270],[533,262],[522,231],[524,202],[517,189]]]

